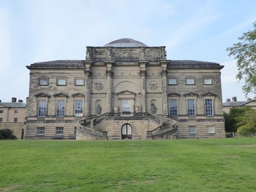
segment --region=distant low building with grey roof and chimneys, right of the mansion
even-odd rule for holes
[[[230,98],[227,98],[226,102],[222,104],[223,111],[227,114],[229,113],[231,108],[241,108],[241,107],[250,107],[256,110],[256,97],[253,99],[248,98],[247,101],[237,101],[237,97],[233,96],[232,101]]]

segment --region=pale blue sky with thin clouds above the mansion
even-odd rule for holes
[[[167,59],[217,62],[222,98],[245,101],[237,69],[226,48],[253,28],[256,1],[4,1],[0,0],[0,100],[25,101],[25,65],[85,59],[86,46],[133,38],[166,45]],[[248,95],[254,97],[254,94]]]

